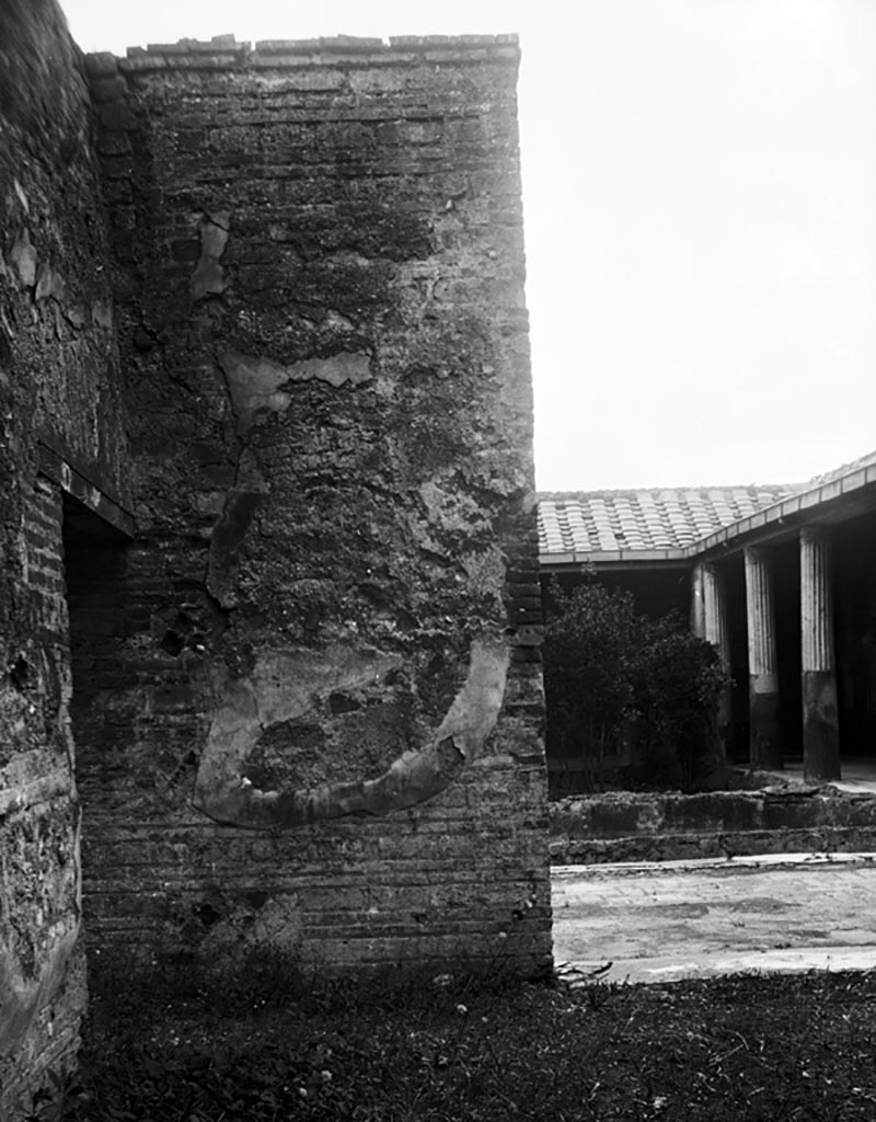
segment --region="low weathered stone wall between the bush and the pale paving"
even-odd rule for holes
[[[551,861],[598,864],[876,849],[876,795],[836,788],[633,793],[551,807]]]

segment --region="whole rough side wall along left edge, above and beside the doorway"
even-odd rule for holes
[[[0,6],[0,1116],[72,1063],[84,1008],[62,488],[120,497],[107,231],[81,56],[49,0]],[[42,451],[40,451],[42,450]],[[70,472],[67,472],[70,475]]]

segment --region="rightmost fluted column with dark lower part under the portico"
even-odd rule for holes
[[[800,616],[803,772],[806,779],[839,779],[830,540],[813,526],[800,532]]]

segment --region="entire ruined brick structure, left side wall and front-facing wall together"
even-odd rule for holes
[[[2,20],[0,1102],[80,817],[92,965],[546,968],[516,40]]]

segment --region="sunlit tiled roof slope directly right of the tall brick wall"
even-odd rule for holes
[[[538,496],[538,542],[548,553],[684,549],[794,494],[776,487],[662,487]]]

